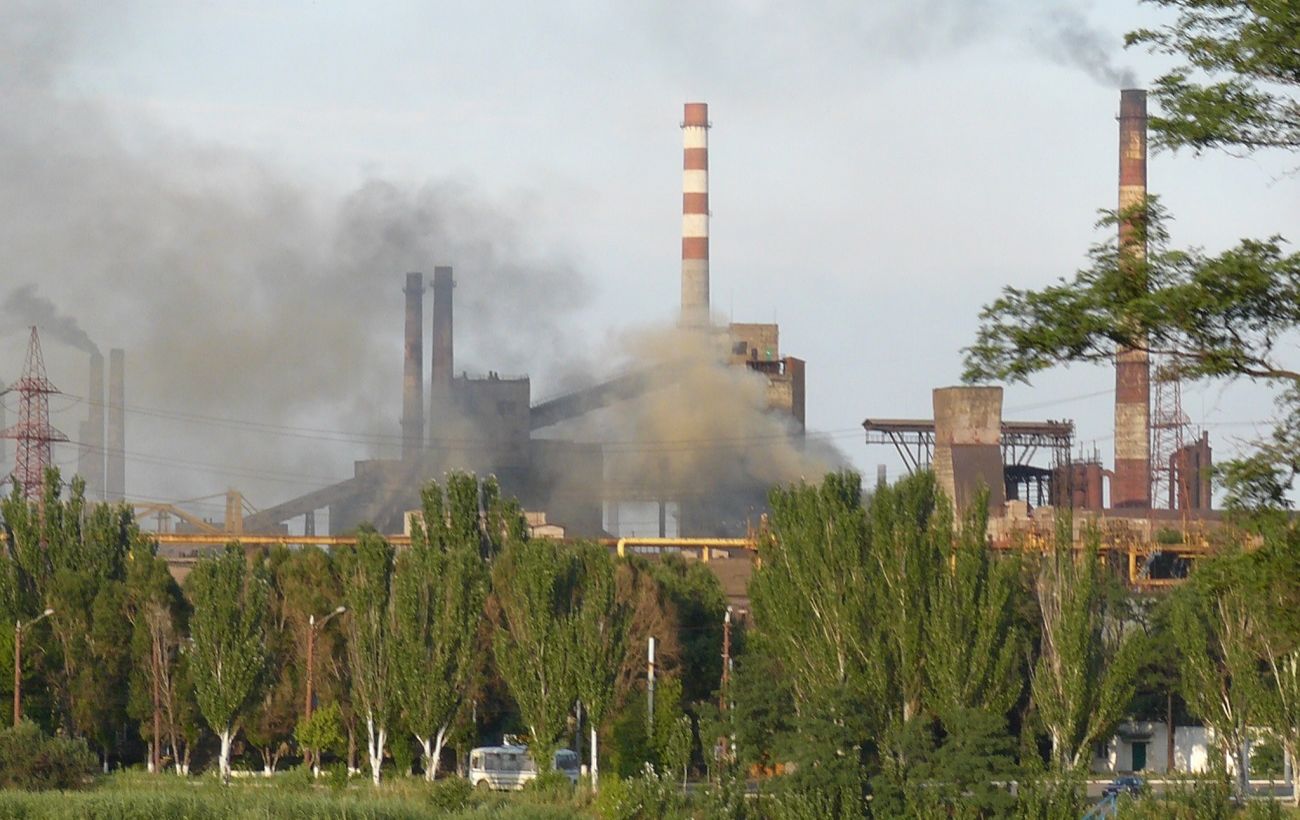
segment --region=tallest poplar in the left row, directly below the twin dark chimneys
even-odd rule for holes
[[[421,520],[412,521],[411,548],[398,557],[393,581],[394,669],[406,725],[424,752],[425,780],[438,776],[447,732],[460,710],[471,654],[488,596],[480,551],[477,480],[454,473],[442,487],[421,491]]]

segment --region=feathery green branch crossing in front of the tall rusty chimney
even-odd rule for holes
[[[1136,226],[1147,253],[1121,250],[1115,226]],[[1264,379],[1283,387],[1283,421],[1254,457],[1223,470],[1230,502],[1242,508],[1286,503],[1300,468],[1300,372],[1287,365],[1286,338],[1300,325],[1300,253],[1283,240],[1243,239],[1218,256],[1171,250],[1157,198],[1105,212],[1106,239],[1088,268],[1043,290],[1006,287],[980,312],[966,348],[967,381],[1028,381],[1058,364],[1110,364],[1117,347],[1158,353],[1183,378]]]

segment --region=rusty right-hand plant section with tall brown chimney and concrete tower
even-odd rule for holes
[[[1118,247],[1130,277],[1144,275],[1136,220],[1145,200],[1147,92],[1128,88],[1119,103]],[[1101,526],[1104,546],[1128,554],[1132,582],[1160,583],[1206,552],[1218,515],[1209,435],[1192,435],[1176,377],[1158,368],[1154,404],[1153,421],[1148,351],[1117,350],[1113,469],[1097,454],[1075,455],[1072,422],[1004,420],[1001,387],[939,389],[932,420],[868,418],[863,429],[867,443],[892,444],[909,470],[933,468],[958,509],[987,490],[994,545],[1046,543],[1057,511],[1069,509],[1076,541],[1082,528]]]

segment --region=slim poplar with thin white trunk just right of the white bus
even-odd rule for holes
[[[580,547],[582,598],[573,620],[577,698],[592,724],[592,789],[601,789],[597,734],[615,698],[619,669],[628,655],[628,607],[618,599],[614,561],[603,547]]]

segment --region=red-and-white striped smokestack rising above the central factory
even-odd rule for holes
[[[686,103],[681,121],[681,325],[708,325],[708,104]]]

